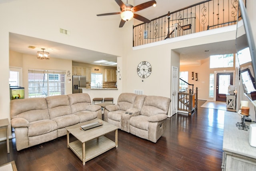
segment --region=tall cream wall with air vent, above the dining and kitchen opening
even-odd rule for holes
[[[132,29],[118,28],[118,15],[96,16],[115,10],[116,2],[112,0],[107,3],[106,0],[0,2],[0,119],[10,119],[9,32],[123,56],[122,33]],[[60,34],[60,28],[70,30],[70,36]],[[1,137],[4,137],[4,130],[0,130]]]

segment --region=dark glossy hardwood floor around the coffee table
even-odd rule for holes
[[[198,106],[204,102],[199,101]],[[9,154],[6,141],[0,142],[0,165],[15,161],[18,171],[220,171],[223,124],[224,110],[198,107],[190,116],[178,113],[168,118],[167,129],[157,143],[118,130],[118,148],[84,166],[67,148],[66,136],[21,151],[16,151],[12,139]],[[114,140],[114,133],[107,137]]]

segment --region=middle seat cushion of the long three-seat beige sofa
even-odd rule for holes
[[[70,114],[70,115],[54,117],[52,120],[56,121],[58,125],[58,129],[60,129],[60,128],[68,127],[68,126],[79,123],[80,117],[77,115]]]

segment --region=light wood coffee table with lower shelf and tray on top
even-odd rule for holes
[[[80,126],[94,122],[102,122],[103,125],[88,129],[86,131],[80,130]],[[86,161],[93,159],[94,157],[114,147],[117,148],[118,127],[100,119],[93,119],[91,121],[72,125],[66,127],[66,129],[68,148],[70,148],[78,156],[78,158],[82,160],[83,165],[85,165]],[[115,131],[115,142],[104,136],[113,131]],[[69,141],[70,133],[76,137],[76,141]]]

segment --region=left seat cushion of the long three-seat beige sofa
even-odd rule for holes
[[[28,127],[28,137],[42,135],[57,129],[57,123],[50,119],[30,122],[30,126]]]

